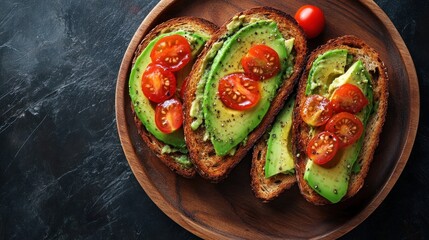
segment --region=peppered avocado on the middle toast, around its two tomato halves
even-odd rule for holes
[[[206,67],[190,112],[190,116],[194,118],[192,128],[198,129],[204,120],[207,138],[212,142],[216,154],[220,156],[233,154],[235,147],[245,141],[247,135],[259,125],[284,77],[291,74],[289,56],[294,39],[285,40],[277,24],[271,20],[255,19],[254,22],[241,26],[240,18],[244,17],[244,15],[236,17],[228,25],[230,36],[214,46],[209,53],[213,54],[212,62]],[[222,94],[218,94],[219,85],[231,74],[245,73],[241,59],[247,56],[255,44],[263,44],[274,51],[279,59],[277,62],[279,71],[267,79],[255,77],[249,79],[248,82],[254,82],[259,88],[259,101],[248,110],[233,109],[222,101],[222,96],[219,96]],[[254,73],[254,69],[258,71],[258,68],[252,68],[250,72]],[[233,91],[237,98],[236,102],[240,100],[240,95],[252,95],[249,93],[251,89],[246,88],[246,85],[251,84],[245,82],[240,84],[239,80],[230,84],[229,90]]]

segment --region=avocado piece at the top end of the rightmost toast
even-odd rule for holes
[[[326,97],[329,85],[344,73],[346,64],[346,49],[335,49],[319,55],[308,73],[305,94],[319,94]]]

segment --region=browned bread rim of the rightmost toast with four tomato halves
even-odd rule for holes
[[[316,205],[329,204],[330,202],[317,194],[304,180],[305,166],[307,163],[306,146],[310,141],[309,126],[300,117],[299,111],[305,101],[305,89],[307,85],[308,74],[312,63],[318,55],[332,49],[347,49],[356,60],[361,60],[365,68],[371,75],[371,84],[373,88],[374,105],[378,106],[374,109],[374,113],[370,116],[367,126],[364,131],[364,140],[362,150],[359,154],[357,162],[361,166],[361,170],[355,174],[352,173],[349,181],[347,194],[342,201],[354,196],[363,186],[364,179],[368,173],[374,151],[378,145],[379,135],[381,133],[387,111],[388,100],[388,76],[387,70],[380,59],[379,54],[369,47],[363,40],[355,36],[343,36],[328,41],[326,44],[314,50],[309,58],[306,68],[301,76],[298,86],[298,93],[294,109],[293,123],[293,142],[295,169],[298,185],[301,194],[305,199]]]

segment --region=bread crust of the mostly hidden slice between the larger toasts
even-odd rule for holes
[[[265,203],[277,198],[296,182],[295,174],[277,174],[270,178],[265,178],[264,167],[267,155],[267,140],[268,134],[265,134],[253,148],[252,168],[250,169],[253,194]]]

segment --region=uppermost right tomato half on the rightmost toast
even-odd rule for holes
[[[360,88],[350,83],[337,88],[331,98],[331,106],[336,112],[358,113],[368,103]]]

